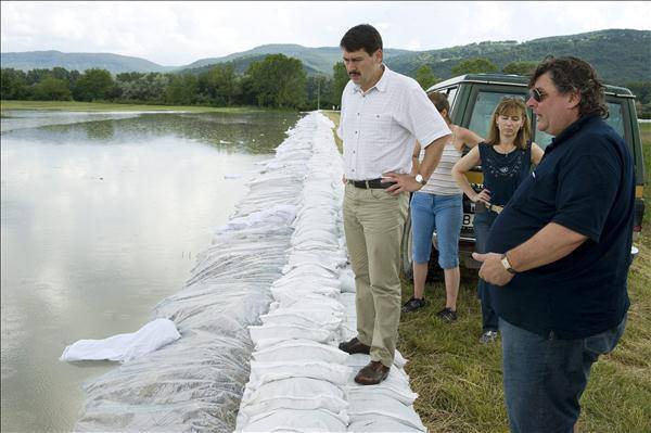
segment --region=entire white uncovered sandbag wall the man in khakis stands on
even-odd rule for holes
[[[322,116],[319,123],[288,265],[272,283],[263,324],[250,327],[255,349],[235,430],[425,431],[399,353],[386,381],[360,386],[354,377],[370,357],[337,348],[357,334],[355,283],[343,235],[341,156],[332,124]]]

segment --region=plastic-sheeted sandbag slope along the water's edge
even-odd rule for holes
[[[76,431],[233,431],[250,378],[247,327],[268,310],[288,263],[317,127],[308,115],[288,132],[184,289],[157,305],[181,339],[87,384]]]

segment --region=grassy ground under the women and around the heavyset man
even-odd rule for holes
[[[323,113],[339,124],[337,113]],[[651,203],[651,124],[641,124],[646,161],[644,201]],[[630,309],[616,349],[592,367],[582,398],[582,433],[651,432],[651,208],[646,231],[636,242],[640,253],[629,272]],[[482,313],[475,295],[476,271],[462,269],[459,319],[445,324],[436,311],[445,306],[442,282],[425,286],[430,304],[403,318],[398,349],[409,359],[406,370],[419,394],[416,410],[432,433],[508,432],[499,343],[477,341]],[[403,281],[403,298],[412,294]]]

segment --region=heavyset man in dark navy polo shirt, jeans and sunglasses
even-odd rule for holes
[[[554,139],[475,258],[494,284],[511,431],[570,433],[591,365],[624,332],[634,165],[589,64],[548,59],[529,88]]]

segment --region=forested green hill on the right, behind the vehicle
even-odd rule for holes
[[[574,55],[597,68],[607,82],[648,81],[651,77],[651,31],[610,29],[571,36],[554,36],[527,42],[480,42],[442,50],[411,52],[386,64],[410,76],[427,64],[439,78],[449,78],[451,68],[460,62],[482,58],[501,69],[511,62],[539,62],[546,55]]]

